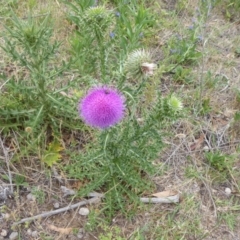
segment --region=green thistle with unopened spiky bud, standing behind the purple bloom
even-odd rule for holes
[[[70,14],[69,18],[78,28],[71,41],[73,55],[79,63],[77,66],[81,68],[81,73],[86,70],[87,73],[100,72],[104,80],[108,49],[105,38],[112,25],[113,14],[104,6],[91,6],[83,11],[77,6],[70,6],[74,14]]]

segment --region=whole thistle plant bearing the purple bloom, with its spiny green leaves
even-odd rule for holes
[[[145,53],[141,50],[141,54]],[[87,181],[80,195],[104,191],[105,210],[110,216],[119,209],[129,215],[127,205],[137,206],[143,192],[153,191],[150,176],[156,171],[153,161],[163,147],[164,129],[182,110],[177,97],[163,98],[160,93],[151,108],[141,109],[145,84],[131,89],[127,82],[131,69],[139,70],[132,73],[132,78],[149,79],[151,74],[142,71],[141,66],[145,61],[150,66],[154,63],[150,55],[143,58],[141,54],[129,55],[134,56],[131,63],[135,67],[126,72],[121,89],[106,85],[93,88],[80,100],[79,115],[87,125],[96,128],[95,138],[85,146],[85,151],[71,157],[72,165],[66,166],[71,177]]]

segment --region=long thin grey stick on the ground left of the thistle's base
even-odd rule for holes
[[[73,205],[69,205],[69,206],[64,207],[64,208],[59,208],[59,209],[56,209],[56,210],[53,210],[53,211],[41,213],[41,214],[38,214],[38,215],[33,216],[33,217],[23,218],[22,220],[13,223],[12,226],[16,226],[16,225],[21,224],[21,223],[33,221],[33,220],[36,220],[36,219],[39,219],[39,218],[50,217],[52,215],[62,213],[62,212],[68,211],[70,209],[81,207],[81,206],[84,206],[84,205],[87,205],[87,204],[97,203],[97,202],[99,202],[99,199],[100,199],[99,197],[94,197],[94,198],[91,198],[89,200],[84,200],[84,201],[81,201],[79,203],[75,203]]]

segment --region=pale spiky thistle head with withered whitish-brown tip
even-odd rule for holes
[[[124,63],[124,70],[127,77],[139,79],[145,76],[153,75],[157,65],[151,63],[151,54],[144,49],[135,50],[128,55]]]

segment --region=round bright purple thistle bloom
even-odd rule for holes
[[[78,106],[80,116],[92,127],[108,128],[124,116],[124,97],[109,87],[90,90]]]

